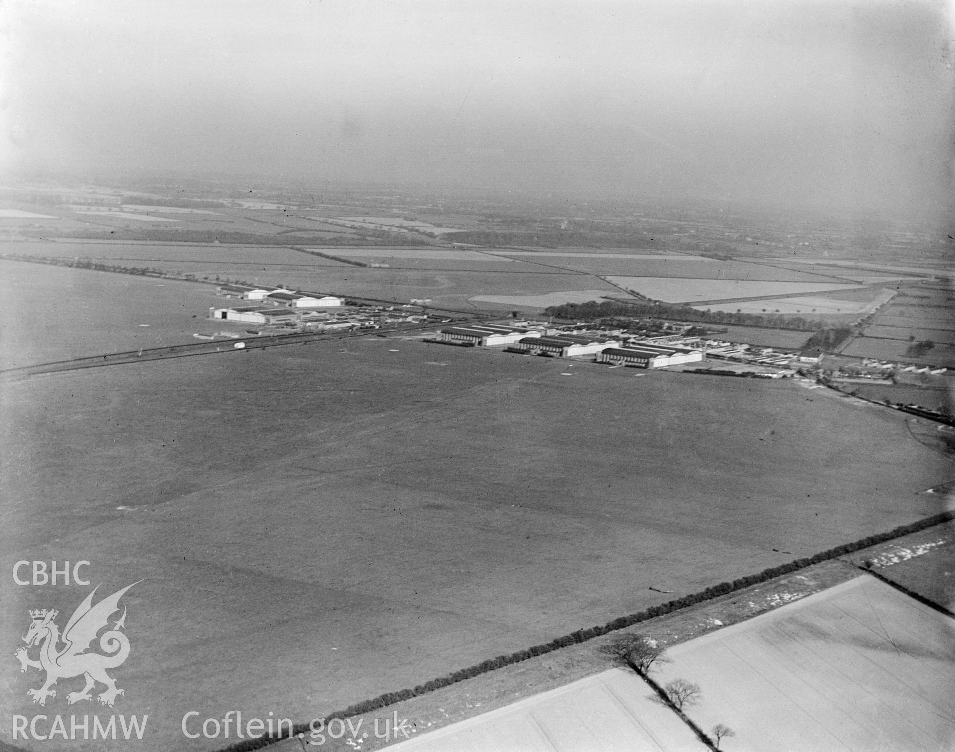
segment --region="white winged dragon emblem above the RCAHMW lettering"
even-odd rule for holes
[[[133,585],[138,585],[138,583],[134,582]],[[30,630],[23,638],[27,647],[19,648],[13,655],[20,661],[21,673],[26,672],[28,668],[39,669],[47,673],[47,679],[42,687],[27,690],[27,694],[33,698],[33,702],[46,705],[48,697],[56,697],[56,690],[51,689],[51,687],[58,679],[78,677],[80,674],[86,678],[86,686],[83,687],[81,692],[71,692],[66,696],[66,700],[70,704],[81,699],[92,699],[90,690],[96,686],[97,681],[106,685],[106,691],[99,695],[99,701],[104,705],[113,707],[117,695],[125,694],[123,690],[117,689],[116,679],[106,673],[107,669],[115,669],[117,666],[121,666],[129,656],[129,637],[121,632],[126,622],[125,607],[123,607],[122,616],[112,625],[113,629],[104,632],[99,637],[100,650],[110,655],[86,653],[85,651],[90,647],[90,643],[96,639],[96,633],[103,627],[110,626],[108,619],[119,610],[119,598],[133,585],[114,592],[94,606],[93,594],[99,590],[97,585],[73,612],[70,620],[66,623],[62,636],[59,634],[59,627],[53,621],[58,612],[48,611],[47,609],[30,612],[32,623]],[[64,643],[65,647],[58,649],[57,644],[59,643]],[[40,646],[39,660],[32,660],[29,655],[30,649],[35,645]]]

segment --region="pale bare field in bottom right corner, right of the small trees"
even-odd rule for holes
[[[955,623],[861,576],[677,645],[654,679],[702,688],[688,708],[728,750],[949,750]]]

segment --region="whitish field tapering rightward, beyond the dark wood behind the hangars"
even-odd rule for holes
[[[739,279],[676,279],[672,277],[607,277],[610,282],[628,290],[636,290],[654,300],[668,303],[691,303],[698,300],[746,298],[757,295],[854,290],[858,285],[837,285],[817,282],[772,282]],[[738,306],[737,306],[738,307]],[[735,310],[735,309],[733,309]]]

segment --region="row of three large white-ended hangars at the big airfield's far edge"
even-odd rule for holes
[[[548,334],[494,324],[443,329],[439,339],[444,342],[472,344],[479,347],[506,346],[508,352],[527,355],[557,357],[596,355],[598,363],[637,368],[662,368],[703,359],[702,351],[689,348],[658,345],[640,340],[624,343],[585,334]]]

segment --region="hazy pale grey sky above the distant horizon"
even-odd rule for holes
[[[3,164],[942,209],[951,6],[8,0]]]

